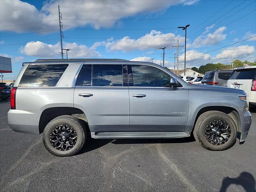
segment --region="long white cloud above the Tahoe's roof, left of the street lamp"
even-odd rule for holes
[[[177,37],[180,36],[176,36],[173,33],[164,34],[160,31],[152,30],[150,33],[138,39],[131,39],[129,36],[116,41],[110,39],[106,44],[106,48],[111,51],[122,50],[124,52],[159,49],[160,47],[175,45],[177,43]],[[184,38],[181,37],[181,39]]]

